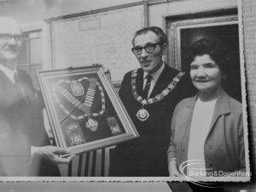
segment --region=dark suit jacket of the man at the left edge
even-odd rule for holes
[[[57,166],[38,156],[31,146],[49,144],[42,105],[32,80],[18,71],[16,84],[0,71],[0,176],[59,176]]]

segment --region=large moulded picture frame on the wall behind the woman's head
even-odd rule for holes
[[[206,27],[224,27],[226,25],[234,24],[238,25],[237,8],[212,9],[205,12],[165,15],[163,17],[163,25],[165,25],[164,28],[166,29],[169,42],[168,54],[166,55],[167,61],[172,63],[172,67],[183,70],[183,47],[189,46],[191,42],[187,42],[187,44],[184,45],[182,31],[195,30],[194,33],[191,32],[192,35],[195,35],[197,32],[196,30],[201,29],[201,34],[199,35],[203,35],[206,34],[207,31],[211,31],[211,29],[206,31]],[[191,36],[188,36],[187,38],[190,37]]]

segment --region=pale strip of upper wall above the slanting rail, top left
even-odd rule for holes
[[[77,14],[98,8],[107,8],[139,0],[22,0],[0,3],[0,15],[11,16],[21,24],[34,23],[65,14]]]

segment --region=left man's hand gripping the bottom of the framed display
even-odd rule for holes
[[[40,155],[52,161],[55,164],[69,163],[75,155],[70,155],[67,157],[61,157],[60,155],[67,155],[68,150],[55,147],[55,146],[42,146],[33,147],[33,155]]]

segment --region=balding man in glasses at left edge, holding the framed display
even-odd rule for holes
[[[56,164],[73,155],[49,144],[32,80],[16,68],[22,40],[20,25],[0,17],[0,176],[60,176]]]

